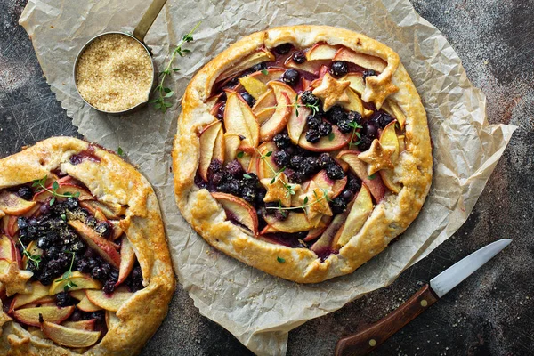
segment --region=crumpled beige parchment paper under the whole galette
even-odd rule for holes
[[[402,239],[349,276],[311,286],[271,277],[209,247],[179,214],[169,153],[178,100],[165,115],[147,108],[110,117],[89,109],[76,93],[72,65],[82,45],[104,31],[132,31],[148,4],[29,0],[20,24],[80,134],[110,150],[122,147],[154,185],[175,271],[199,311],[257,354],[285,354],[289,330],[387,286],[448,239],[467,219],[514,132],[512,125],[488,125],[485,96],[468,81],[445,37],[421,19],[408,0],[169,0],[146,37],[159,69],[182,35],[202,20],[189,46],[193,52],[176,63],[182,72],[168,83],[179,95],[202,65],[239,37],[307,23],[350,28],[391,46],[401,55],[425,104],[434,146],[433,186]]]

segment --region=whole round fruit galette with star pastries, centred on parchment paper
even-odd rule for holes
[[[398,54],[321,26],[258,32],[207,63],[173,159],[177,205],[209,244],[302,283],[384,250],[432,181],[425,109]]]

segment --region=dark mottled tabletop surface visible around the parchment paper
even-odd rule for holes
[[[464,61],[488,97],[490,123],[518,125],[473,213],[428,258],[377,290],[289,334],[288,355],[332,354],[338,338],[382,318],[434,275],[493,240],[514,242],[376,355],[528,355],[534,350],[534,1],[412,0]],[[445,4],[446,3],[446,4]],[[0,0],[0,157],[53,135],[77,135],[46,84],[17,21],[26,0]],[[409,61],[409,59],[404,59]],[[143,355],[247,355],[223,328],[200,316],[178,287]]]

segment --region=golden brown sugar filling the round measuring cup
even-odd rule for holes
[[[96,38],[77,62],[78,92],[94,108],[104,111],[123,111],[147,101],[152,80],[149,53],[126,35]]]

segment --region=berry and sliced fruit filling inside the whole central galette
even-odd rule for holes
[[[257,239],[336,254],[402,189],[406,116],[392,99],[362,100],[386,66],[326,43],[247,55],[206,100],[214,121],[199,134],[198,188]]]

